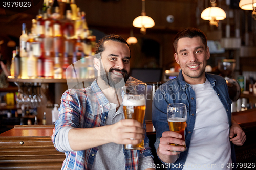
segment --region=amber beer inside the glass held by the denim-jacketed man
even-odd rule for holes
[[[181,136],[182,136],[181,140],[185,141],[185,132],[184,131],[185,131],[185,127],[186,127],[186,119],[185,118],[176,118],[176,117],[169,118],[168,124],[169,124],[170,131],[177,132],[177,133],[181,134]],[[170,145],[181,146],[179,144],[172,144],[172,143]],[[183,145],[183,147],[186,150],[186,144]],[[175,151],[175,152],[177,152],[177,151]]]

